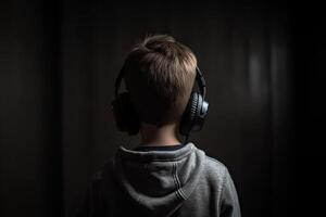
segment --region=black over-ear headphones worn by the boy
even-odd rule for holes
[[[115,99],[111,103],[116,128],[120,131],[127,131],[129,136],[137,135],[140,127],[138,114],[130,101],[128,91],[118,93],[123,69],[120,71],[115,79]],[[204,100],[206,92],[205,79],[201,71],[196,66],[196,81],[200,92],[192,91],[186,110],[181,115],[179,133],[188,140],[190,132],[200,131],[203,127],[205,116],[209,111],[209,103]]]

